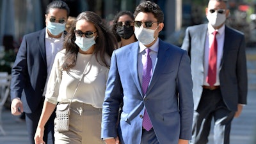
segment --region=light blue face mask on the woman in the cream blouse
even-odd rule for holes
[[[94,40],[95,36],[93,36],[92,38],[85,38],[85,37],[79,37],[76,36],[76,45],[83,50],[84,52],[86,52],[87,50],[89,50],[92,45],[95,44],[95,40]]]

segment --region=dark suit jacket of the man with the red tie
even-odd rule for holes
[[[188,50],[191,58],[193,97],[195,110],[202,95],[204,82],[204,49],[207,24],[188,27],[182,49]],[[247,69],[244,35],[225,26],[223,56],[220,64],[220,89],[223,101],[235,112],[237,104],[246,104]]]

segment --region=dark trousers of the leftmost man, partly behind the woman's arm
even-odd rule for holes
[[[26,115],[26,126],[28,129],[28,136],[29,136],[29,143],[34,144],[34,136],[36,133],[36,128],[38,121],[40,119],[42,108],[43,108],[44,102],[42,100],[42,103],[40,106],[38,106],[38,109],[33,113],[25,113]],[[54,144],[54,119],[56,117],[55,110],[52,113],[51,117],[45,124],[44,129],[44,141],[46,144]]]

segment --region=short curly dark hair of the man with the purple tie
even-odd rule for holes
[[[157,22],[164,22],[164,13],[156,3],[153,3],[151,1],[145,1],[143,3],[140,3],[134,11],[134,18],[136,18],[138,13],[140,12],[152,13],[157,19]]]

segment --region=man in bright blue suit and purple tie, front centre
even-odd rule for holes
[[[164,15],[156,3],[139,4],[134,18],[138,42],[115,50],[111,57],[102,138],[108,144],[118,138],[123,144],[188,143],[193,120],[188,54],[158,38]],[[146,88],[144,61],[152,63]]]

